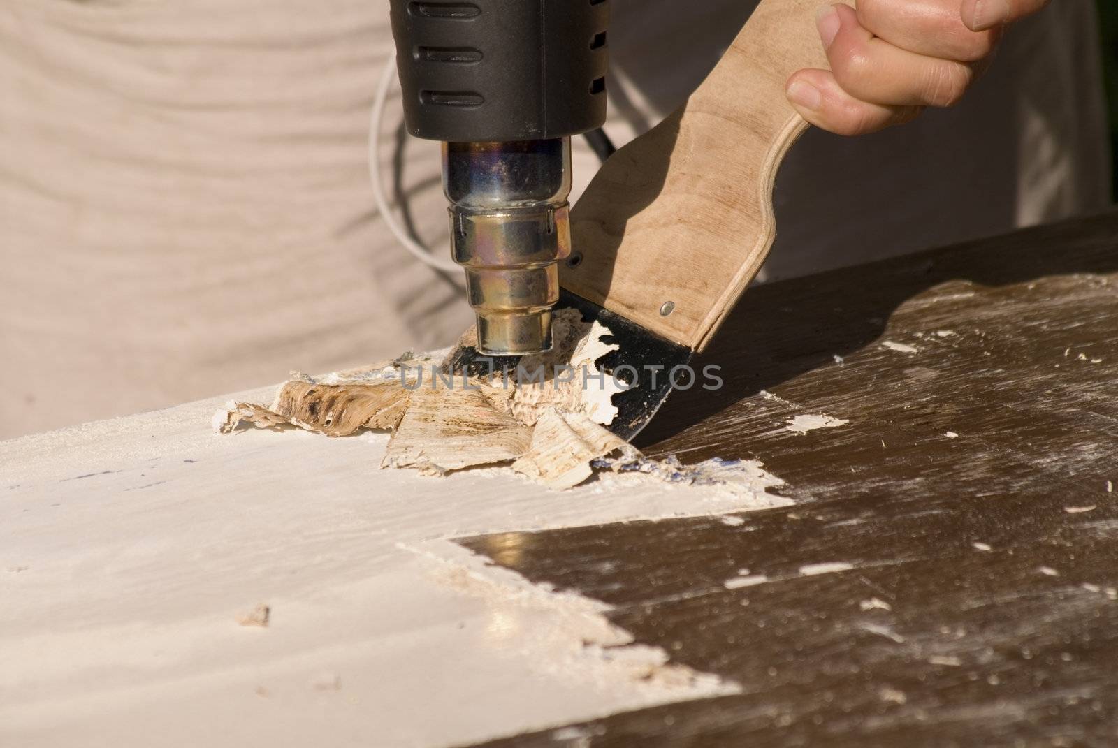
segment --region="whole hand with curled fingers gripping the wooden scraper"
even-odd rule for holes
[[[1077,0],[1078,1],[1078,0]],[[831,70],[796,72],[788,101],[814,125],[860,135],[954,106],[985,69],[1006,23],[1048,0],[858,0],[819,9]]]

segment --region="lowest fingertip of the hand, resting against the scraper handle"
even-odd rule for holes
[[[912,120],[918,106],[881,106],[854,98],[830,70],[799,70],[788,78],[788,101],[800,116],[839,135],[864,135]]]

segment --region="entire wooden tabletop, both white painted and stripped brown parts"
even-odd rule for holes
[[[679,392],[645,445],[756,455],[799,502],[735,520],[705,515],[757,498],[419,479],[377,470],[383,435],[221,436],[224,399],[0,443],[0,742],[438,746],[619,712],[596,741],[1106,745],[1116,225],[750,293],[707,354],[726,387]],[[849,424],[786,428],[804,415]],[[769,581],[728,587],[746,568]],[[266,628],[238,625],[262,603]],[[598,656],[628,635],[743,692],[642,709],[711,690]]]

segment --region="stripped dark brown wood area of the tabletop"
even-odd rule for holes
[[[1118,745],[1118,212],[754,288],[709,362],[645,452],[795,506],[462,542],[741,694],[489,746]]]

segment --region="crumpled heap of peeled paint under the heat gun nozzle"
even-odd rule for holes
[[[582,322],[575,310],[560,310],[553,333],[552,351],[524,357],[517,370],[484,378],[462,373],[452,378],[443,370],[444,361],[472,344],[468,333],[453,350],[409,352],[319,378],[292,373],[271,407],[230,401],[215,415],[214,428],[230,433],[243,425],[295,426],[337,437],[362,429],[388,430],[382,467],[445,475],[506,465],[558,490],[582,483],[594,467],[688,485],[724,485],[731,492],[757,493],[780,484],[760,470],[760,463],[713,460],[683,466],[672,460],[646,460],[606,428],[617,415],[612,398],[620,391],[619,384],[596,366],[616,349],[603,341],[609,330],[598,322]],[[552,379],[531,376],[540,367]],[[561,373],[571,369],[569,378]]]

